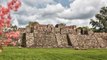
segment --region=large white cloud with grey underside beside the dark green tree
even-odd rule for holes
[[[59,17],[71,20],[92,18],[104,6],[103,3],[103,0],[75,0]]]

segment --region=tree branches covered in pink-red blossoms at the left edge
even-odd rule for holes
[[[18,37],[19,32],[7,32],[5,29],[9,28],[11,25],[11,11],[17,11],[20,6],[21,2],[19,0],[11,0],[7,3],[7,7],[0,6],[0,35],[3,39],[7,38],[5,41],[0,42],[0,45],[11,41],[12,38]]]

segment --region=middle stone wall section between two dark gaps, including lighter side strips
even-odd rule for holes
[[[67,35],[54,33],[26,33],[26,47],[68,47]]]

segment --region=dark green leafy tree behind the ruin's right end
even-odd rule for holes
[[[93,26],[93,30],[97,32],[107,32],[107,7],[102,7],[95,17],[96,20],[91,19],[90,22]]]

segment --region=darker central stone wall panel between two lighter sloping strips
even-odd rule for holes
[[[50,48],[50,47],[57,47],[57,41],[55,34],[52,33],[40,33],[35,34],[35,46],[36,47],[44,47],[44,48]]]

